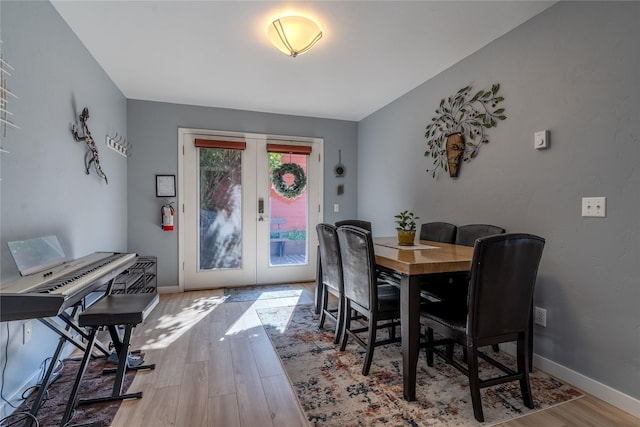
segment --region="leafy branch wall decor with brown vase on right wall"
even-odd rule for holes
[[[507,118],[504,108],[498,105],[504,101],[502,96],[498,96],[498,90],[500,85],[496,83],[490,90],[480,90],[471,96],[472,87],[469,85],[440,101],[436,116],[424,134],[427,139],[424,155],[433,159],[433,168],[427,172],[431,172],[433,178],[439,169],[457,177],[460,161],[471,161],[478,155],[482,144],[489,142],[485,130],[496,127],[498,120]]]

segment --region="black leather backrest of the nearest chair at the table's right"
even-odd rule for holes
[[[476,241],[469,282],[468,336],[481,341],[527,330],[544,244],[542,237],[525,233]]]

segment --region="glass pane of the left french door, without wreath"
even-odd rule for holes
[[[242,151],[198,150],[199,270],[242,268]]]

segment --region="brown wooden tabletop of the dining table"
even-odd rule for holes
[[[473,248],[421,240],[414,246],[398,246],[396,237],[373,239],[376,264],[408,275],[468,271]]]

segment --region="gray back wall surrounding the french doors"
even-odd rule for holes
[[[127,121],[134,144],[128,164],[128,247],[158,257],[158,286],[178,285],[178,232],[160,229],[165,199],[155,197],[155,175],[177,175],[179,127],[323,138],[324,221],[356,217],[356,122],[137,100],[128,102]],[[347,170],[344,178],[333,173],[338,150]],[[345,186],[340,196],[338,184]],[[340,204],[340,213],[333,212],[334,203]]]

